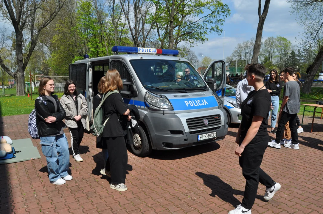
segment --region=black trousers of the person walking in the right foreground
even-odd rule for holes
[[[244,137],[240,138],[240,144]],[[259,182],[267,188],[274,186],[275,181],[271,179],[261,168],[261,162],[268,146],[269,136],[256,136],[242,152],[239,157],[239,164],[242,168],[242,175],[245,177],[245,193],[242,199],[242,206],[251,209],[255,203]]]

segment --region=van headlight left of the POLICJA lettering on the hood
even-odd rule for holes
[[[145,93],[145,101],[150,108],[157,110],[174,110],[172,103],[163,95],[155,94],[151,91]]]

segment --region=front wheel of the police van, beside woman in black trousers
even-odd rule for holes
[[[144,157],[151,153],[152,148],[148,141],[146,132],[139,126],[139,134],[133,135],[134,144],[130,145],[131,151],[139,156]]]

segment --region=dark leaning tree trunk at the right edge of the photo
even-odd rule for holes
[[[315,57],[312,67],[306,76],[304,86],[302,86],[303,93],[309,94],[311,92],[315,74],[318,72],[318,68],[320,67],[322,62],[323,62],[323,46],[318,51],[318,55]]]

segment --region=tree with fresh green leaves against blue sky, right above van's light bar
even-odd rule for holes
[[[221,34],[220,26],[230,15],[228,5],[218,0],[153,0],[160,47],[176,49],[181,42],[191,45],[207,40],[208,33]],[[167,45],[168,44],[168,45]]]

